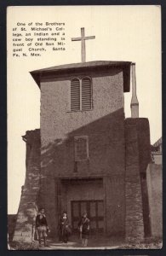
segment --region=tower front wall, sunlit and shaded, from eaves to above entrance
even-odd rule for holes
[[[114,68],[105,76],[89,75],[91,111],[68,111],[70,77],[41,83],[42,172],[46,175],[124,172],[123,72]],[[76,164],[74,137],[83,135],[89,136],[89,161]]]

